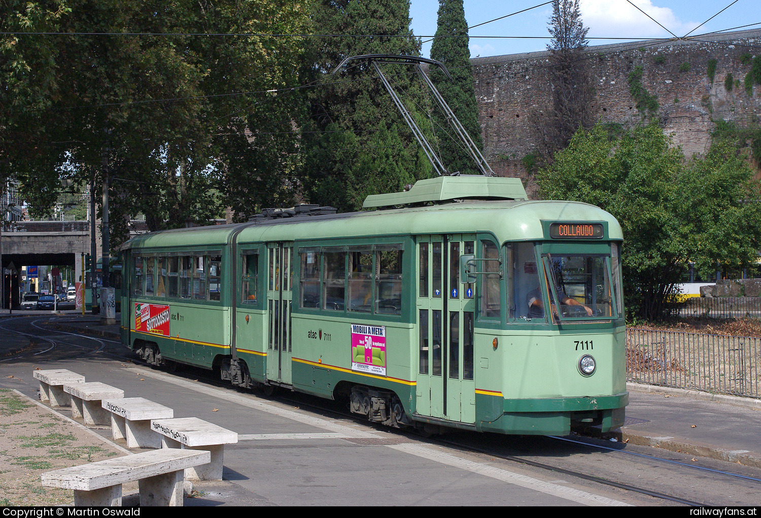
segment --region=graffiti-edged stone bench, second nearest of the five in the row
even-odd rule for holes
[[[164,436],[161,437],[164,448],[211,452],[209,464],[185,470],[189,480],[221,480],[224,445],[237,443],[236,432],[199,418],[158,419],[151,421],[151,429]]]

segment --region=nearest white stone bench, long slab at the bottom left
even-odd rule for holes
[[[164,449],[58,469],[41,475],[47,488],[74,490],[75,506],[118,507],[122,485],[138,481],[140,505],[183,505],[183,473],[205,464],[211,453]]]

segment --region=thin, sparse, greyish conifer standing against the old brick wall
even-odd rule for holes
[[[549,33],[552,40],[547,45],[551,53],[550,81],[552,83],[552,114],[543,123],[545,153],[549,155],[562,149],[579,129],[589,129],[591,103],[594,90],[583,59],[588,28],[581,20],[579,0],[555,0]]]

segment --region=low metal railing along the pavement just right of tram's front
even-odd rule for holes
[[[761,338],[626,329],[626,380],[761,398]]]

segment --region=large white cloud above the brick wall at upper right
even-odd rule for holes
[[[588,37],[631,38],[632,40],[671,37],[667,30],[681,37],[699,25],[697,22],[680,21],[670,8],[653,5],[651,0],[632,0],[634,5],[650,17],[626,0],[581,0],[579,3],[581,19],[584,25],[589,27]],[[655,21],[667,30],[661,28]],[[594,41],[590,43],[595,44]]]

